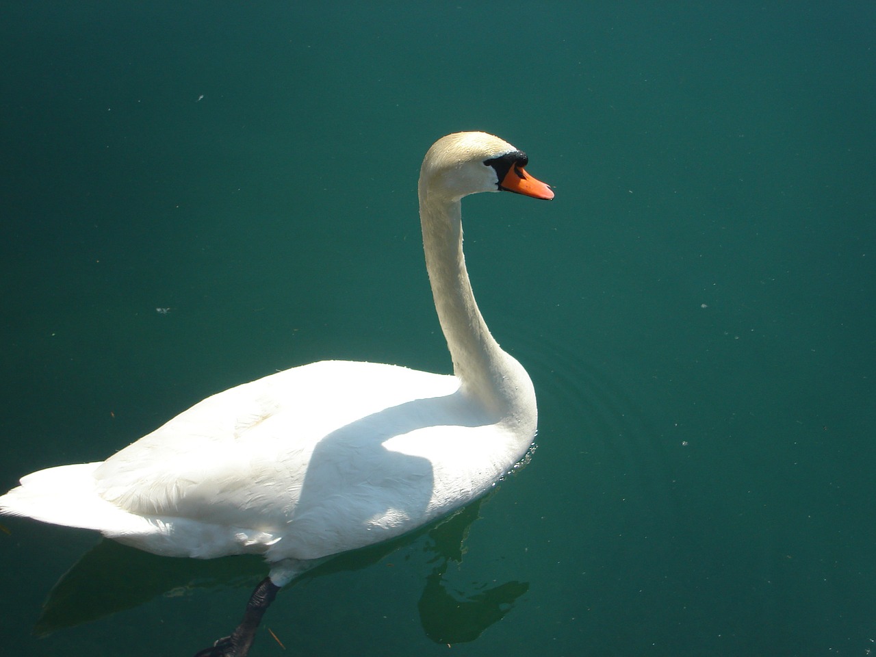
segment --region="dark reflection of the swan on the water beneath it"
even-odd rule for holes
[[[429,639],[436,643],[464,643],[477,639],[484,630],[511,610],[512,604],[529,588],[528,583],[506,582],[471,592],[450,591],[445,583],[449,564],[461,563],[464,541],[478,518],[484,498],[464,507],[447,519],[419,532],[387,543],[338,555],[301,576],[302,580],[329,573],[363,569],[393,550],[410,548],[426,536],[426,549],[433,556],[420,596],[420,622]],[[131,573],[148,573],[128,586]],[[240,586],[249,589],[265,575],[265,564],[256,556],[230,556],[200,561],[175,559],[128,548],[113,540],[101,540],[74,567],[61,576],[49,593],[34,632],[45,636],[67,627],[88,623],[117,611],[145,604],[161,595],[173,597],[193,589]],[[293,588],[295,583],[287,588]]]

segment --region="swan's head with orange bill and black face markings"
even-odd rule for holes
[[[456,132],[436,141],[420,168],[420,195],[458,201],[478,192],[516,192],[550,200],[554,192],[524,166],[526,153],[486,132]]]

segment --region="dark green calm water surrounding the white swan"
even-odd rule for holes
[[[295,364],[449,371],[416,175],[491,131],[556,190],[463,208],[538,449],[289,587],[253,657],[870,653],[874,38],[858,2],[5,4],[0,488]],[[2,526],[3,654],[191,654],[265,574]]]

